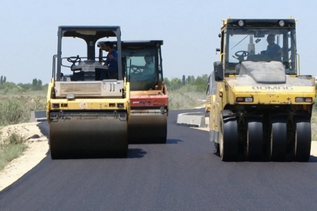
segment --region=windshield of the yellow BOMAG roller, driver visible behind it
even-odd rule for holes
[[[226,73],[238,74],[242,61],[279,61],[296,74],[295,29],[229,28],[226,42]]]

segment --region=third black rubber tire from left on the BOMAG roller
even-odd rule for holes
[[[271,139],[269,159],[271,161],[285,160],[287,147],[287,125],[284,118],[273,118],[271,126]]]

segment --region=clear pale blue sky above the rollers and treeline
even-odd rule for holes
[[[218,60],[221,19],[293,18],[301,74],[317,75],[317,1],[212,0],[20,0],[0,7],[0,75],[15,83],[49,82],[59,25],[119,25],[122,40],[164,40],[164,77],[209,74]],[[79,44],[78,44],[79,43]],[[62,56],[83,55],[81,41],[63,46]],[[80,52],[80,53],[77,53]],[[71,55],[70,55],[71,54]],[[85,55],[86,56],[86,55]]]

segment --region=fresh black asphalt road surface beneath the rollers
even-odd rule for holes
[[[51,160],[0,192],[0,210],[317,210],[317,159],[222,162],[209,133],[176,125],[126,159]]]

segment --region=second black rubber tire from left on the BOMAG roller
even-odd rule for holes
[[[245,158],[248,161],[260,160],[263,152],[263,125],[256,119],[248,119]]]

